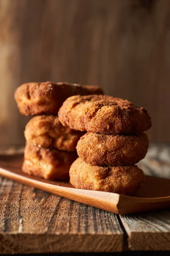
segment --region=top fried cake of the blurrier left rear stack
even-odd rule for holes
[[[17,88],[14,98],[20,113],[26,116],[40,114],[57,115],[62,103],[73,95],[88,95],[90,91],[79,84],[26,83]]]

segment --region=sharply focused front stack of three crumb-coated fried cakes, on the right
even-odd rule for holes
[[[125,195],[140,188],[144,173],[134,164],[147,153],[147,110],[111,96],[72,96],[60,108],[59,121],[88,131],[77,144],[79,158],[70,168],[73,186]]]

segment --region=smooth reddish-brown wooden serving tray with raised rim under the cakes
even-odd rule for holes
[[[170,207],[169,179],[146,176],[144,184],[136,195],[127,196],[109,192],[75,189],[68,182],[55,182],[29,176],[21,171],[22,163],[23,155],[2,157],[0,175],[116,214],[129,214]]]

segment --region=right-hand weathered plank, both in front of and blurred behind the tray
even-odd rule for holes
[[[165,145],[150,147],[145,159],[138,164],[145,174],[170,178],[169,158],[162,152],[168,152],[168,156],[169,147]],[[167,169],[161,162],[162,158]],[[157,168],[153,165],[154,161],[158,163]],[[127,232],[128,247],[131,250],[170,250],[170,209],[122,215],[120,218]]]

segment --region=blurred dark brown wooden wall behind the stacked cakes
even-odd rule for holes
[[[99,84],[148,109],[170,142],[169,0],[0,0],[0,145],[23,144],[27,81]]]

